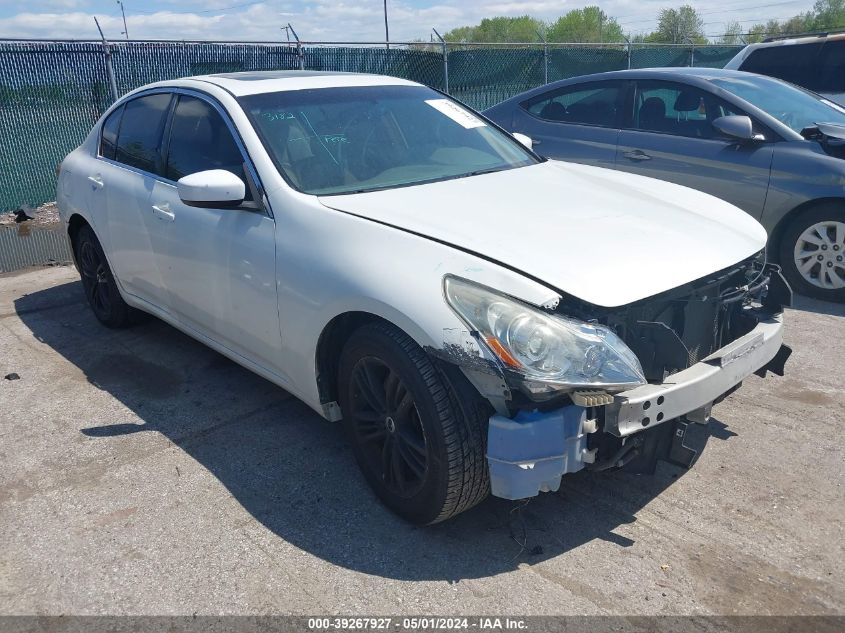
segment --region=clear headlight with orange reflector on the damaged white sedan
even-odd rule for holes
[[[636,355],[603,325],[545,314],[457,277],[444,285],[457,315],[527,380],[602,389],[646,382]]]

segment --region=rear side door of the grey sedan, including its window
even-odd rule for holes
[[[613,167],[626,81],[564,86],[520,104],[513,131],[531,137],[547,158]]]

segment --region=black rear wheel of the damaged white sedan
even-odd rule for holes
[[[85,298],[97,320],[109,328],[132,325],[137,311],[120,296],[106,254],[90,226],[79,229],[74,249]]]

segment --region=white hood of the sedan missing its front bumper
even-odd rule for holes
[[[604,307],[695,281],[766,244],[756,220],[713,196],[556,161],[320,201],[477,253]]]

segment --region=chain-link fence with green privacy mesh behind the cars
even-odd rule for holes
[[[120,94],[189,75],[333,70],[392,75],[446,89],[477,109],[577,75],[650,66],[723,66],[740,47],[303,46],[120,42],[109,46]],[[301,56],[301,57],[300,57]],[[630,57],[630,59],[629,59]],[[56,166],[112,103],[105,48],[91,42],[0,41],[0,211],[55,199]]]

